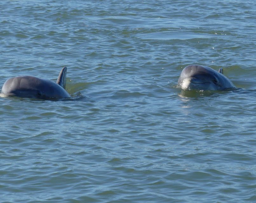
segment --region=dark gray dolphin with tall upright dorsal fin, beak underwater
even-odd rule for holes
[[[33,76],[12,77],[4,82],[1,93],[7,96],[44,100],[70,98],[70,94],[65,90],[66,74],[67,67],[64,67],[56,83]]]

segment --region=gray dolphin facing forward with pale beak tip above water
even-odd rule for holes
[[[207,66],[189,65],[185,67],[178,80],[184,90],[223,90],[235,88],[233,83],[223,75],[223,69],[216,71]]]

